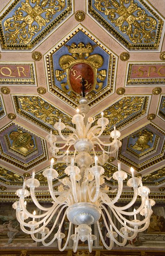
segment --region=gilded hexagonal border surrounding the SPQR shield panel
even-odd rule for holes
[[[71,35],[69,35],[65,40],[63,40],[58,46],[54,47],[54,49],[46,55],[46,73],[48,77],[48,85],[51,92],[61,98],[63,101],[71,104],[73,107],[78,106],[78,101],[72,97],[71,95],[65,93],[62,89],[55,85],[54,81],[54,67],[53,67],[53,54],[57,52],[61,47],[63,47],[74,35],[76,35],[79,31],[82,31],[84,34],[89,36],[91,40],[93,40],[99,47],[101,47],[107,54],[110,56],[109,61],[109,70],[108,70],[108,77],[107,77],[107,86],[101,89],[96,94],[91,94],[89,106],[92,106],[96,102],[100,101],[100,99],[104,98],[106,95],[110,94],[114,87],[114,71],[115,71],[115,64],[116,64],[116,57],[109,52],[102,44],[100,44],[92,35],[90,35],[85,29],[82,27],[77,28]],[[76,97],[77,98],[77,97]]]

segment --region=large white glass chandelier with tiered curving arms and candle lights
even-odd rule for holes
[[[104,168],[102,166],[108,160],[108,155],[116,152],[121,146],[119,141],[120,132],[116,130],[114,125],[114,130],[110,134],[112,142],[102,142],[99,137],[104,132],[106,125],[108,125],[108,119],[102,113],[97,121],[97,125],[93,126],[95,118],[87,118],[89,106],[87,105],[86,98],[81,98],[79,103],[77,114],[72,119],[75,128],[66,126],[60,120],[54,125],[54,128],[59,132],[59,136],[65,141],[65,145],[57,147],[57,138],[52,132],[46,136],[46,140],[51,145],[49,150],[52,152],[53,158],[61,157],[57,155],[59,149],[67,147],[67,151],[62,157],[67,166],[65,173],[68,176],[59,180],[62,184],[59,186],[58,192],[53,190],[53,179],[58,179],[58,172],[53,169],[53,158],[50,168],[43,172],[43,175],[47,178],[50,195],[52,196],[52,206],[45,208],[37,201],[34,190],[39,187],[40,182],[35,179],[35,173],[33,172],[32,178],[24,181],[23,188],[17,190],[20,201],[14,202],[13,208],[16,209],[16,216],[22,231],[30,234],[33,240],[42,242],[45,246],[51,245],[57,239],[59,250],[63,251],[71,239],[73,240],[73,251],[76,252],[79,240],[81,240],[82,242],[87,241],[89,252],[91,252],[93,241],[97,238],[92,234],[91,225],[97,223],[101,241],[105,248],[110,250],[114,243],[124,246],[127,240],[133,240],[138,232],[148,228],[150,216],[152,215],[151,206],[155,202],[148,198],[150,190],[143,186],[141,178],[134,177],[132,168],[132,178],[127,182],[127,186],[132,187],[134,191],[132,201],[122,207],[115,205],[122,193],[123,181],[127,178],[127,174],[121,170],[120,162],[118,162],[118,171],[113,174],[113,179],[118,181],[117,195],[114,198],[107,195],[109,188],[103,185],[107,177],[104,175]],[[71,131],[67,137],[61,132],[65,128]],[[95,152],[96,145],[102,150],[102,155],[98,157]],[[74,155],[69,155],[71,146],[75,148]],[[105,146],[111,146],[110,152],[105,150]],[[26,187],[30,188],[30,193]],[[31,195],[36,207],[42,212],[40,215],[37,215],[35,211],[33,214],[27,211],[25,198],[29,195]],[[136,202],[138,195],[141,196],[141,205],[138,209],[129,211]],[[139,213],[143,216],[141,220],[137,219],[137,214]],[[49,230],[46,226],[54,215],[57,217],[53,227]],[[59,216],[62,216],[62,220],[58,231],[53,239],[46,243],[45,240],[53,232],[58,223]],[[107,230],[108,245],[99,226],[101,216]],[[130,220],[131,216],[132,220]],[[65,243],[62,243],[65,234],[61,232],[61,228],[66,217],[70,224]],[[114,218],[117,221],[114,222]],[[119,222],[118,225],[116,225],[117,222]],[[121,239],[120,242],[117,239],[118,235],[121,237],[122,242]]]

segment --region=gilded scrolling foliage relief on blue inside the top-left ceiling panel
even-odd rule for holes
[[[65,0],[25,0],[13,16],[5,20],[7,44],[28,44],[35,34],[64,9]]]

